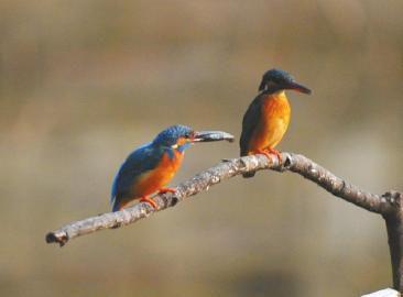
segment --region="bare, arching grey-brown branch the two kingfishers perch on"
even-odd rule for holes
[[[175,206],[187,197],[194,196],[210,186],[222,180],[247,173],[261,169],[273,169],[277,172],[291,170],[316,183],[333,195],[352,202],[369,211],[388,216],[395,209],[395,200],[388,196],[379,196],[363,191],[357,186],[350,185],[337,177],[329,170],[314,163],[309,158],[292,153],[282,153],[282,161],[273,156],[266,158],[264,155],[246,156],[241,158],[226,160],[218,165],[202,172],[193,178],[179,184],[175,194],[162,194],[154,197],[159,211]],[[138,204],[122,211],[108,212],[68,223],[61,229],[46,234],[47,243],[59,243],[63,246],[68,240],[90,234],[102,229],[113,229],[133,223],[140,219],[151,216],[155,210],[145,202]]]

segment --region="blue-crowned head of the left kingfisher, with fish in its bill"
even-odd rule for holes
[[[193,143],[221,140],[231,142],[233,141],[233,136],[221,131],[194,131],[189,127],[176,124],[156,135],[153,143],[183,152]]]

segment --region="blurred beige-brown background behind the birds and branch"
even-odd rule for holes
[[[46,245],[108,211],[127,154],[173,123],[239,138],[269,68],[298,152],[363,188],[402,189],[403,2],[0,2],[1,296],[358,296],[391,285],[380,217],[261,172],[116,231]],[[238,155],[190,148],[174,183]]]

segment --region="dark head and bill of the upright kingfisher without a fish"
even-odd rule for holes
[[[279,90],[296,90],[304,94],[311,94],[311,90],[296,82],[287,72],[281,69],[270,69],[263,77],[259,86],[260,91],[279,91]]]

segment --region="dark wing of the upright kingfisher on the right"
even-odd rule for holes
[[[262,117],[261,112],[261,98],[262,95],[258,95],[257,98],[250,103],[242,120],[242,133],[239,140],[239,146],[241,148],[241,156],[248,155],[249,142],[252,138],[254,130],[258,128]]]

